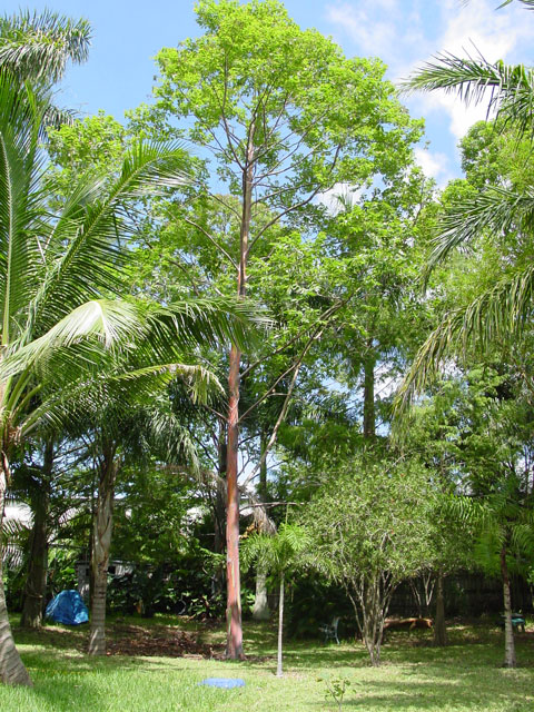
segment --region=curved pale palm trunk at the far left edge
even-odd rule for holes
[[[0,466],[0,527],[6,506],[6,490],[9,482],[9,462],[4,452],[1,453]],[[6,592],[3,589],[2,571],[2,540],[0,537],[0,681],[8,685],[28,685],[32,682],[14,645],[13,634],[9,624]]]

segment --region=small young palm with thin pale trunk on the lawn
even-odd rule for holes
[[[295,568],[301,560],[304,552],[309,547],[310,536],[308,532],[298,524],[281,524],[278,532],[269,536],[268,534],[253,534],[245,540],[241,554],[245,566],[256,562],[260,571],[270,571],[280,584],[280,595],[278,603],[278,662],[276,676],[281,678],[281,649],[284,636],[284,584],[286,576]]]

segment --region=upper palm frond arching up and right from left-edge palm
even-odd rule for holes
[[[187,182],[184,144],[138,142],[127,154],[120,176],[81,177],[49,237],[49,269],[32,306],[32,319],[50,324],[58,314],[105,294],[123,294],[119,275],[127,254],[118,238],[135,233],[127,204],[139,196]]]

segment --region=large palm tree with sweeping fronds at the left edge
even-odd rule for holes
[[[89,376],[102,385],[164,374],[178,360],[177,334],[181,349],[230,334],[246,343],[250,325],[251,310],[241,304],[160,307],[119,298],[128,285],[117,237],[134,230],[125,205],[182,185],[185,151],[139,141],[113,181],[80,177],[52,215],[39,145],[49,106],[46,90],[0,70],[0,512],[14,446],[43,423],[60,425]],[[118,357],[126,364],[134,353],[137,373],[113,372]],[[30,684],[9,627],[1,570],[0,651],[0,680]]]

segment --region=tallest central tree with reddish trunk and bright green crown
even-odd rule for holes
[[[247,298],[249,259],[276,226],[314,229],[314,199],[337,185],[388,180],[409,160],[411,121],[378,60],[346,59],[316,30],[303,31],[277,0],[200,0],[204,34],[158,56],[158,119],[187,119],[210,156],[191,192],[231,210],[233,245],[184,204],[181,218],[208,239]],[[158,123],[159,126],[160,123]],[[209,181],[208,176],[217,176]],[[221,195],[225,194],[225,195]],[[237,199],[237,205],[236,205]],[[266,209],[267,208],[267,209]],[[227,655],[243,655],[239,583],[239,397],[241,350],[229,356],[227,411]]]

